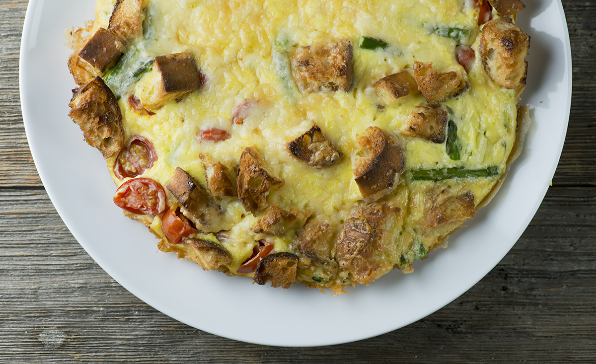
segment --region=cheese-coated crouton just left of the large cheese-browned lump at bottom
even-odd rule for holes
[[[309,259],[326,262],[333,257],[335,229],[324,217],[315,217],[296,232],[292,245]]]

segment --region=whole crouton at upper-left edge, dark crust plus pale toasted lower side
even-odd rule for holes
[[[110,30],[100,28],[78,53],[73,53],[68,62],[70,73],[75,77],[77,85],[91,82],[104,71],[114,66],[126,42]]]

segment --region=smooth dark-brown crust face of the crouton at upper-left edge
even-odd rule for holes
[[[103,73],[116,63],[125,46],[122,38],[100,28],[80,50],[79,57]]]

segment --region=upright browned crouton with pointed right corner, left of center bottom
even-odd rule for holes
[[[267,207],[267,195],[284,185],[284,180],[271,175],[265,168],[254,147],[246,148],[240,155],[240,166],[236,176],[238,198],[242,206],[253,214]]]

